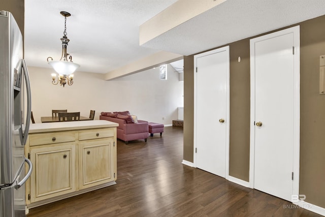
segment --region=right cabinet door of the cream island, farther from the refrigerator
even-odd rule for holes
[[[79,143],[79,189],[114,180],[113,139]]]

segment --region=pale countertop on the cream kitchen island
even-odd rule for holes
[[[82,120],[52,123],[31,123],[29,133],[42,133],[52,131],[82,130],[94,128],[117,127],[118,123],[108,120]]]

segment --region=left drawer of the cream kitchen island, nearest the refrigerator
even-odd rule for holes
[[[53,132],[29,134],[29,145],[55,144],[61,142],[72,142],[76,140],[76,132]]]

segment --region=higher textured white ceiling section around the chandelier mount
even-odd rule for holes
[[[67,18],[68,53],[78,71],[107,73],[158,50],[139,46],[139,26],[177,0],[28,0],[25,1],[25,60],[49,67],[59,60]]]

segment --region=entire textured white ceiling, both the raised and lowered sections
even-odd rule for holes
[[[227,0],[139,46],[139,26],[176,1],[25,1],[26,63],[49,67],[48,56],[60,58],[60,11],[72,14],[67,18],[68,53],[81,65],[78,71],[96,73],[159,50],[189,55],[325,14],[325,0]]]

